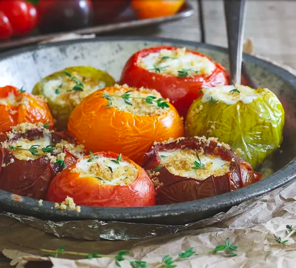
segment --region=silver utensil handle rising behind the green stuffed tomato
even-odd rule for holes
[[[233,84],[241,84],[246,0],[224,0],[229,67]]]

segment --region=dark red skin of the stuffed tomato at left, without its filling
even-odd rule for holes
[[[52,132],[52,144],[60,142],[68,136],[63,132]],[[26,138],[34,140],[42,137],[42,131],[38,129],[28,130],[24,134],[17,134],[13,140]],[[0,135],[0,142],[9,141],[5,134]],[[69,141],[70,140],[66,140]],[[63,150],[66,153],[64,163],[66,167],[77,161],[77,157]],[[13,162],[11,163],[11,159]],[[10,163],[9,163],[10,162]],[[3,166],[3,164],[6,166]],[[34,160],[20,160],[16,158],[8,148],[0,146],[0,189],[22,196],[36,199],[44,199],[51,180],[62,170],[61,165],[51,163],[44,156]]]

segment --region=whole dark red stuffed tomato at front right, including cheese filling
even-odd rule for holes
[[[159,204],[235,191],[262,177],[228,145],[205,137],[157,143],[145,158],[143,167],[156,185]]]

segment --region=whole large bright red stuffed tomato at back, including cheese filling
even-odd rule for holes
[[[228,79],[220,64],[197,51],[157,46],[133,54],[120,83],[158,90],[185,118],[192,102],[201,95],[200,89],[226,85]]]

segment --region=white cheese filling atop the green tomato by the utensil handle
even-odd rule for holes
[[[257,98],[265,95],[265,92],[257,92],[249,86],[225,85],[203,89],[202,102],[222,101],[227,105],[233,105],[241,101],[244,104],[252,103]]]

